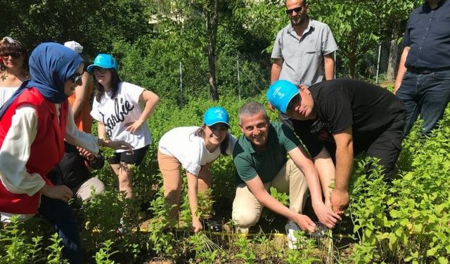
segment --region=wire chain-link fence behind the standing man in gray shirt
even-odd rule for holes
[[[354,76],[368,82],[393,83],[403,46],[397,42],[382,42],[369,49],[356,63]],[[210,99],[207,61],[179,62],[179,105],[191,98]],[[238,100],[259,96],[269,87],[270,54],[238,54],[218,56],[216,83],[219,96],[232,95]],[[335,53],[335,76],[349,77],[348,60],[340,51]]]

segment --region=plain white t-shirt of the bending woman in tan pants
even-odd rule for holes
[[[220,156],[220,148],[213,152],[206,149],[203,137],[195,136],[200,127],[175,127],[160,139],[158,150],[161,153],[175,157],[185,170],[198,175],[201,166],[215,161]],[[229,135],[229,145],[226,153],[233,154],[236,137]]]

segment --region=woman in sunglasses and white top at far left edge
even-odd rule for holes
[[[13,95],[27,79],[25,47],[11,37],[0,40],[0,106]]]

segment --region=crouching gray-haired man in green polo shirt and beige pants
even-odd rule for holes
[[[319,175],[294,132],[280,122],[269,122],[264,106],[257,102],[245,103],[239,119],[244,135],[233,151],[238,186],[232,213],[238,227],[255,225],[266,206],[290,220],[286,232],[294,248],[293,233],[299,226],[307,232],[316,230],[314,222],[301,214],[309,188],[314,213],[323,225],[333,228],[341,218],[323,203]],[[289,208],[269,194],[270,187],[289,194]]]

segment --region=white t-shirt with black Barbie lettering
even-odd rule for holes
[[[110,93],[105,92],[100,102],[94,99],[92,105],[92,118],[103,122],[106,134],[112,140],[123,140],[141,149],[152,143],[152,136],[148,124],[143,124],[134,133],[127,131],[130,123],[139,119],[142,108],[139,105],[139,96],[144,92],[142,87],[129,82],[120,82],[117,96],[111,99]],[[123,152],[117,150],[116,152]]]

